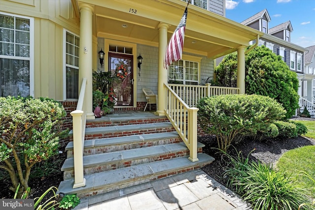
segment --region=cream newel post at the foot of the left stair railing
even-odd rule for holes
[[[85,186],[83,172],[83,136],[82,136],[82,110],[70,113],[73,120],[73,161],[74,161],[74,184],[73,188]]]

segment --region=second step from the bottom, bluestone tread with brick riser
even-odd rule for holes
[[[202,152],[202,147],[204,145],[198,143],[198,153]],[[84,175],[182,156],[189,156],[189,150],[184,142],[87,155],[83,157]],[[61,170],[63,171],[63,180],[73,178],[73,158],[67,158]]]

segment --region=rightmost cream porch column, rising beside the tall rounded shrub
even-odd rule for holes
[[[245,46],[237,48],[237,87],[245,94]]]

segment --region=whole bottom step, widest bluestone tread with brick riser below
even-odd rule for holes
[[[199,169],[214,161],[213,157],[205,153],[199,153],[198,159],[191,162],[185,156],[99,172],[85,176],[86,186],[73,189],[74,180],[70,179],[62,181],[58,189],[65,194],[77,193],[82,198]]]

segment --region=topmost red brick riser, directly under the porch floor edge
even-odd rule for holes
[[[157,122],[169,122],[167,118],[161,119],[149,119],[149,120],[121,120],[121,121],[99,121],[99,122],[86,122],[86,127],[107,127],[107,126],[118,126],[118,125],[134,125],[134,124],[147,124]]]

